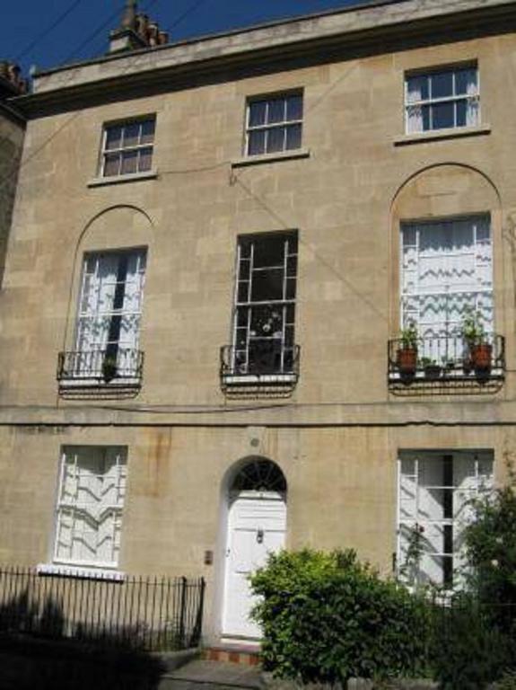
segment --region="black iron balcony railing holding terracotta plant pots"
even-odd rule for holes
[[[389,341],[388,355],[391,388],[441,385],[446,392],[454,383],[501,384],[505,376],[505,340],[494,333],[476,344],[462,335],[440,335],[418,338],[415,347],[407,347],[396,338]]]

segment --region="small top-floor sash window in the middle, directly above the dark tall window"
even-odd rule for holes
[[[246,155],[275,154],[301,147],[302,93],[249,99]]]

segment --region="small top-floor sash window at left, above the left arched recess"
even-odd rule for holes
[[[154,118],[104,127],[101,177],[144,173],[153,164]]]

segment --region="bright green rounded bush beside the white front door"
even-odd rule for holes
[[[251,586],[264,666],[275,676],[334,683],[417,672],[427,606],[354,552],[271,554]]]

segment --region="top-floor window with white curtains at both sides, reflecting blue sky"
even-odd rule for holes
[[[477,66],[406,75],[405,122],[407,134],[478,125]]]

